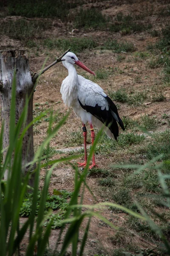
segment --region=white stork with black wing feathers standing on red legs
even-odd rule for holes
[[[73,52],[67,52],[61,61],[64,67],[68,69],[68,76],[62,81],[60,93],[64,104],[68,108],[72,108],[76,116],[82,121],[85,161],[78,163],[78,165],[79,167],[85,167],[87,164],[86,123],[90,125],[92,145],[95,138],[93,125],[100,129],[104,124],[105,133],[110,139],[114,138],[115,140],[119,136],[118,124],[122,130],[125,130],[125,127],[113,101],[98,84],[78,75],[75,64],[94,76],[95,73],[79,61]],[[94,152],[92,165],[89,168],[93,167],[97,167]]]

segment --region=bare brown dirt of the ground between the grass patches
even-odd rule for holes
[[[115,17],[117,13],[122,12],[123,15],[130,15],[136,13],[136,15],[146,13],[147,16],[142,19],[145,23],[151,23],[153,28],[152,30],[161,31],[166,25],[170,24],[170,16],[159,17],[159,10],[168,6],[166,1],[155,1],[155,4],[152,1],[136,1],[136,3],[128,3],[128,1],[105,1],[105,2],[94,2],[87,1],[88,3],[84,6],[86,7],[96,7],[102,10],[102,13],[111,17]],[[90,3],[89,3],[90,2]],[[6,19],[17,19],[19,17],[6,17]],[[5,18],[4,18],[5,19]],[[156,116],[158,120],[158,126],[155,131],[164,131],[168,128],[167,123],[163,123],[162,115],[170,115],[170,87],[162,87],[163,79],[163,67],[150,68],[148,67],[148,58],[140,59],[136,58],[136,53],[146,52],[147,45],[150,43],[155,43],[159,40],[158,37],[152,37],[149,32],[136,32],[130,35],[122,35],[122,33],[112,33],[109,31],[97,31],[94,29],[89,29],[83,31],[81,29],[69,30],[67,24],[62,23],[60,20],[53,21],[54,27],[50,31],[45,32],[45,38],[80,38],[80,37],[92,37],[92,38],[112,38],[117,39],[118,41],[128,41],[131,42],[135,51],[133,53],[121,52],[115,53],[112,50],[85,50],[84,52],[79,53],[79,59],[91,70],[96,72],[99,69],[112,68],[113,73],[108,76],[108,79],[95,80],[106,93],[110,91],[116,91],[118,89],[125,88],[127,93],[132,92],[141,92],[144,90],[148,91],[150,98],[155,92],[163,93],[166,97],[164,101],[153,102],[152,100],[147,100],[142,105],[134,106],[128,105],[127,103],[118,103],[119,105],[119,115],[130,117],[133,120],[139,119],[144,114],[150,116]],[[3,35],[0,40],[0,49],[9,49],[9,48],[25,48],[22,41],[11,39],[6,35]],[[40,47],[38,56],[35,54],[33,49],[28,48],[29,54],[29,65],[33,72],[40,71],[44,61],[48,57],[45,65],[52,63],[55,60],[55,56],[59,56],[62,52],[57,49],[45,49]],[[118,56],[122,56],[123,60],[118,61]],[[152,53],[150,58],[153,58]],[[117,72],[115,70],[122,70],[122,72]],[[77,72],[81,73],[82,70],[77,68]],[[38,81],[36,91],[34,93],[34,111],[37,113],[37,108],[40,111],[53,109],[54,113],[58,113],[59,117],[62,117],[63,114],[67,113],[68,109],[64,106],[60,94],[60,87],[62,80],[67,76],[68,72],[63,67],[62,63],[56,64],[54,67],[49,69],[45,74],[40,77]],[[81,73],[82,74],[82,73]],[[85,74],[85,73],[83,73]],[[89,79],[93,81],[94,77],[89,75]],[[48,129],[48,122],[41,122],[34,128],[34,145],[35,150],[42,143],[46,137]],[[70,110],[70,115],[67,122],[58,132],[57,136],[51,141],[50,146],[58,150],[74,150],[77,148],[83,148],[83,137],[81,137],[82,143],[79,145],[69,146],[69,138],[72,131],[81,131],[81,120],[77,119],[74,112]],[[120,130],[120,133],[122,131]],[[90,145],[90,141],[88,141]],[[63,155],[65,155],[63,151]],[[54,157],[60,157],[58,154]],[[96,155],[96,162],[101,169],[109,168],[113,163],[118,163],[119,160],[122,160],[123,157],[127,157],[125,150],[118,152],[115,155],[110,155],[109,157],[102,157],[102,155]],[[82,159],[83,160],[83,157]],[[126,159],[125,159],[126,160]],[[128,157],[127,157],[128,160]],[[76,161],[73,160],[72,163]],[[42,170],[42,178],[45,176],[45,170]],[[88,186],[93,191],[94,195],[97,198],[98,202],[105,201],[105,198],[99,193],[99,186],[97,183],[96,177],[88,177],[87,179]],[[42,183],[42,181],[41,181]],[[54,173],[51,177],[51,184],[49,192],[52,193],[53,189],[67,189],[72,191],[74,189],[74,170],[68,164],[60,164],[57,168],[54,169]],[[107,196],[107,194],[106,194]],[[90,192],[85,192],[84,204],[94,204],[94,198]],[[114,225],[122,227],[127,221],[127,215],[125,213],[114,213],[111,209],[104,210],[102,215],[105,218],[108,218],[113,222]],[[80,232],[80,237],[83,234],[85,229],[86,222],[82,225],[82,231]],[[119,245],[115,244],[112,241],[112,237],[115,236],[116,230],[104,224],[97,218],[93,218],[91,221],[91,227],[88,235],[88,242],[85,248],[85,255],[92,256],[95,254],[105,254],[112,255],[114,249],[119,248]],[[139,246],[142,249],[147,248],[156,248],[156,244],[150,242],[148,239],[139,236],[133,230],[128,230],[131,236],[126,236],[122,234],[122,239],[129,246]],[[57,240],[59,230],[52,230],[50,247],[55,247],[55,241]],[[132,255],[132,254],[127,254]],[[143,254],[135,254],[143,255]],[[148,254],[150,255],[150,254]],[[155,255],[155,254],[154,254]]]

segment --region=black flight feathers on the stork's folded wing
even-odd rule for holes
[[[117,140],[117,137],[119,136],[119,128],[116,122],[116,119],[113,117],[111,110],[116,113],[116,116],[119,120],[119,125],[122,127],[122,129],[124,130],[124,125],[122,120],[119,117],[116,105],[112,102],[112,100],[107,96],[105,97],[108,101],[109,104],[109,110],[106,110],[106,108],[104,110],[101,109],[101,107],[96,104],[95,107],[91,107],[88,105],[82,105],[82,103],[79,100],[79,104],[80,106],[86,110],[88,113],[91,113],[93,116],[95,116],[97,119],[99,119],[103,124],[105,124],[106,126],[108,126],[108,128],[110,129],[111,133],[113,134],[115,140]]]

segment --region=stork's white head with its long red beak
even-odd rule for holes
[[[91,71],[88,67],[86,67],[81,61],[78,60],[77,56],[73,52],[67,52],[63,57],[62,57],[62,64],[67,67],[67,63],[69,64],[76,64],[77,66],[81,67],[82,69],[86,70],[87,72],[93,74],[94,76],[95,73]]]

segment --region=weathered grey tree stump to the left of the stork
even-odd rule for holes
[[[30,97],[26,125],[33,120],[34,84],[31,78],[27,52],[25,49],[0,51],[0,102],[1,119],[4,122],[3,148],[6,148],[9,144],[11,86],[14,70],[16,70],[16,123],[26,104],[26,97]],[[6,151],[3,154],[3,159],[5,157]],[[22,166],[31,162],[33,158],[33,126],[31,126],[23,139]],[[26,175],[26,172],[27,169],[23,168],[23,175]],[[8,170],[5,172],[4,179],[7,179],[7,177]],[[32,186],[33,183],[34,178],[32,177],[29,185]]]

